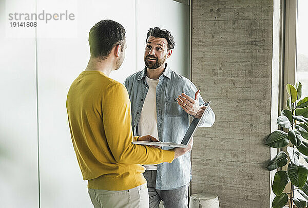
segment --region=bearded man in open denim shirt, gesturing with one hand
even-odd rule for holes
[[[181,143],[190,124],[189,117],[200,118],[204,112],[200,90],[166,63],[174,46],[174,37],[169,31],[150,28],[144,51],[145,68],[124,82],[131,101],[134,135],[150,134],[162,142]],[[212,109],[205,113],[200,126],[210,127],[215,114]],[[144,166],[150,207],[158,207],[160,200],[164,207],[187,207],[191,181],[189,153],[171,163]]]

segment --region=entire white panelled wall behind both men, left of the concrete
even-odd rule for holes
[[[154,3],[145,0],[37,0],[37,14],[68,12],[74,15],[74,20],[47,23],[37,20],[35,51],[35,28],[8,26],[8,12],[34,13],[35,1],[0,1],[0,31],[5,31],[0,33],[1,207],[35,208],[39,201],[44,208],[92,207],[69,133],[67,92],[90,58],[90,28],[105,19],[124,26],[128,46],[122,66],[110,74],[112,79],[123,83],[128,75],[144,67],[146,33],[155,26],[166,28],[174,35],[176,45],[168,63],[172,70],[188,77],[189,6],[172,0]]]

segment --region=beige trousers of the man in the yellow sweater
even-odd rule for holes
[[[147,184],[129,190],[109,191],[88,188],[94,208],[148,208]]]

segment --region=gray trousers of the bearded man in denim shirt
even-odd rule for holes
[[[165,208],[187,208],[188,205],[188,187],[186,185],[175,190],[157,190],[155,188],[157,171],[144,172],[149,191],[150,208],[158,208],[160,200],[164,202]]]

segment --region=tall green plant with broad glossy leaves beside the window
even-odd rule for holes
[[[287,204],[299,208],[307,206],[308,202],[308,168],[300,162],[302,157],[308,162],[308,97],[299,100],[302,85],[286,85],[290,98],[286,101],[287,109],[281,111],[277,124],[283,130],[276,130],[266,138],[265,144],[273,148],[286,147],[267,164],[268,171],[287,165],[287,171],[277,171],[274,176],[272,191],[276,195],[272,202],[273,208],[282,208]],[[288,162],[290,160],[290,162]],[[285,186],[291,182],[290,191],[283,193]],[[304,199],[294,197],[294,190]]]

